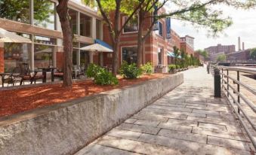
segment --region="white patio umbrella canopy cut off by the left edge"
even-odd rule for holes
[[[28,38],[24,38],[20,35],[16,35],[13,32],[8,32],[5,29],[0,28],[0,42],[2,43],[31,43]]]

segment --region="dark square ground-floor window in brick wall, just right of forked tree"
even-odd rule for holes
[[[137,47],[122,47],[122,61],[128,64],[137,62]]]

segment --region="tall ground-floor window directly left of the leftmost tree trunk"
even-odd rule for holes
[[[47,68],[54,65],[55,38],[35,36],[34,66],[35,68]]]

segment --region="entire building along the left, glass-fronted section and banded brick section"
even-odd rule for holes
[[[33,5],[29,5],[31,3]],[[32,41],[31,44],[0,44],[0,72],[11,72],[20,62],[27,62],[32,71],[48,66],[63,68],[63,36],[55,10],[57,2],[45,0],[43,3],[45,4],[41,4],[39,0],[25,0],[21,8],[15,8],[7,0],[0,3],[0,7],[3,8],[0,10],[0,27]],[[2,5],[10,6],[12,9],[5,9]],[[36,10],[39,8],[40,11],[47,11],[48,14],[44,18]],[[161,12],[165,12],[165,9],[159,11],[159,14]],[[94,62],[111,67],[112,53],[80,50],[81,47],[94,44],[97,39],[110,44],[108,29],[102,24],[103,18],[94,9],[73,0],[69,1],[69,16],[71,17],[72,32],[76,38],[73,42],[73,65],[86,67],[89,63]],[[147,20],[148,24],[146,23],[143,28],[145,32],[153,19],[148,18]],[[124,21],[125,16],[122,17],[120,23],[122,24]],[[122,32],[119,64],[122,63],[122,60],[136,62],[137,23],[138,21],[133,19]],[[181,48],[181,39],[173,30],[171,30],[171,38],[167,38],[166,19],[159,20],[158,26],[159,29],[153,31],[143,45],[142,60],[143,63],[152,62],[155,67],[162,65],[167,71],[168,64],[173,62],[171,57],[173,56],[171,54],[173,47]]]

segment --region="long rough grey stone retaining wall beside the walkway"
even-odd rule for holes
[[[0,120],[0,154],[73,154],[182,84],[182,73]]]

